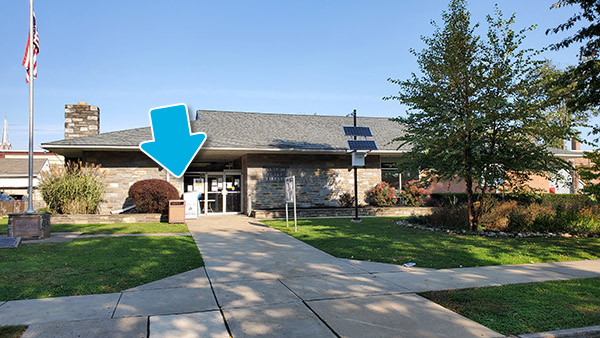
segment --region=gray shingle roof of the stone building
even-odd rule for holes
[[[242,113],[200,110],[200,120],[192,121],[193,132],[207,135],[204,149],[286,149],[344,150],[347,149],[342,126],[352,125],[352,117],[322,115],[291,115]],[[397,150],[393,138],[402,134],[402,127],[387,118],[359,117],[359,126],[371,127],[380,150]],[[152,139],[150,127],[127,129],[44,143],[43,147],[137,147]]]

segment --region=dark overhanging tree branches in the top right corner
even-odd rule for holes
[[[571,16],[567,22],[546,30],[546,34],[569,30],[578,23],[589,22],[575,34],[551,46],[558,50],[571,44],[581,44],[580,61],[570,69],[565,78],[575,80],[578,95],[569,100],[569,107],[580,111],[600,106],[600,0],[559,0],[551,8],[579,5],[581,12]]]

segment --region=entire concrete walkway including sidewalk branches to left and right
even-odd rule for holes
[[[254,219],[188,223],[205,268],[121,293],[0,302],[24,337],[501,337],[415,292],[600,277],[600,260],[432,270],[335,258]]]

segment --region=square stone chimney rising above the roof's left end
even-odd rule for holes
[[[87,102],[65,105],[65,139],[97,135],[100,132],[100,108]]]

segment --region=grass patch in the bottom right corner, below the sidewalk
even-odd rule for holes
[[[600,278],[426,292],[422,296],[505,335],[600,323]]]

